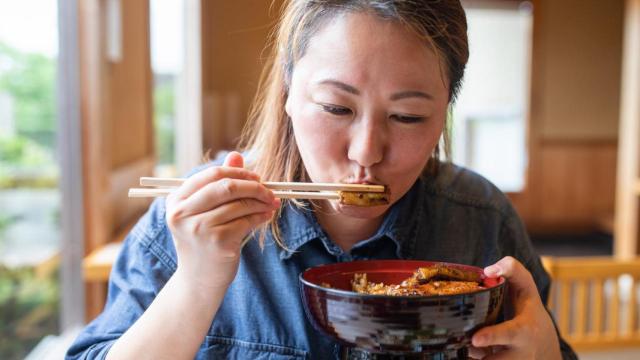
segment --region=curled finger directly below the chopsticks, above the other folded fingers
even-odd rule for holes
[[[238,199],[255,199],[274,208],[276,205],[273,192],[259,182],[227,178],[205,185],[179,203],[176,211],[182,216],[200,214]]]

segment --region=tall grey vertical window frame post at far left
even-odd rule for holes
[[[60,333],[84,324],[84,195],[78,0],[58,0],[57,150],[60,161]]]

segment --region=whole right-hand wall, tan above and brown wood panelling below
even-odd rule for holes
[[[624,0],[533,3],[527,186],[511,198],[533,232],[610,228]]]

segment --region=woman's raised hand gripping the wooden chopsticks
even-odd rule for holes
[[[176,274],[198,289],[226,292],[235,278],[243,239],[273,215],[280,202],[243,169],[242,156],[203,170],[167,198],[167,223],[178,257]]]

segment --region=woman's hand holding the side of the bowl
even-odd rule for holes
[[[484,269],[489,277],[509,281],[514,317],[478,330],[472,338],[474,359],[561,359],[560,344],[551,317],[527,269],[507,256]]]

